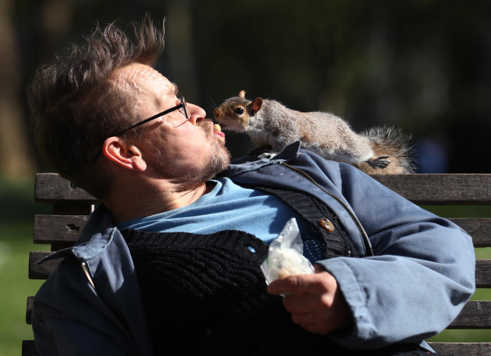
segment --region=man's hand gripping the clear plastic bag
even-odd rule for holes
[[[336,279],[321,267],[314,268],[312,275],[292,275],[271,282],[268,292],[295,293],[283,298],[293,322],[307,331],[327,334],[351,324],[351,312]]]

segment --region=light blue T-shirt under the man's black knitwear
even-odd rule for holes
[[[190,205],[123,221],[117,226],[120,230],[131,228],[147,232],[194,234],[239,229],[266,243],[275,239],[291,218],[296,218],[301,232],[305,229],[300,215],[275,196],[242,187],[225,177],[211,181],[215,182],[211,192]]]

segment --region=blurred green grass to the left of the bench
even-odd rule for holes
[[[33,180],[0,181],[0,355],[19,356],[22,340],[32,340],[26,324],[27,296],[33,296],[42,281],[28,279],[29,252],[47,250],[32,243],[33,217],[47,207],[33,201]]]

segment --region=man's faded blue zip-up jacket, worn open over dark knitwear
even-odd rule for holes
[[[331,333],[348,347],[422,341],[442,331],[475,289],[472,239],[354,167],[288,146],[272,160],[233,161],[221,175],[324,201],[343,221],[357,254],[318,261],[337,280],[355,322]],[[74,247],[39,289],[32,326],[41,355],[151,355],[129,250],[100,204]],[[430,349],[430,348],[429,348]]]

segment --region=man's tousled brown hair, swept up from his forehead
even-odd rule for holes
[[[154,66],[164,47],[164,28],[149,15],[130,31],[99,26],[82,44],[71,44],[50,65],[37,69],[27,89],[31,127],[40,155],[62,177],[96,198],[108,193],[110,179],[91,158],[104,139],[135,123],[135,97],[109,80],[131,63]],[[130,130],[129,135],[138,134]]]

